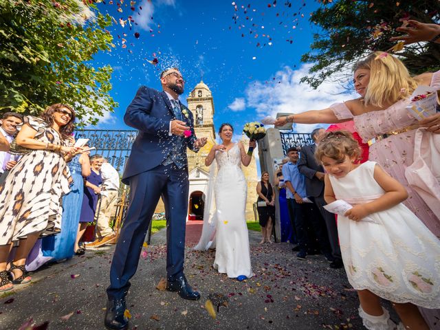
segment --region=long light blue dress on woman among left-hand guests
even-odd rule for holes
[[[84,182],[81,175],[80,155],[76,155],[70,162],[69,170],[74,179],[70,192],[63,197],[63,217],[61,232],[42,240],[43,256],[52,256],[56,261],[72,258],[78,223],[80,221],[80,203],[83,201]]]

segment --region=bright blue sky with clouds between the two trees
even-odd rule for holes
[[[133,2],[98,4],[101,12],[118,22],[109,28],[116,47],[92,62],[114,68],[111,96],[119,103],[114,113],[100,120],[100,129],[126,129],[122,116],[137,88],[161,89],[159,72],[170,66],[181,68],[186,78],[184,102],[203,76],[214,97],[216,129],[230,122],[236,133],[245,122],[278,111],[320,109],[347,99],[332,83],[318,91],[299,84],[309,67],[300,63],[300,56],[318,32],[309,23],[317,1],[292,1],[290,7],[288,1],[273,0]],[[129,16],[134,21],[131,26]],[[124,27],[120,19],[126,21]],[[153,58],[159,61],[157,65],[148,63]],[[296,130],[313,128],[298,126]]]

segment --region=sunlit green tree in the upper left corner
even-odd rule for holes
[[[80,0],[0,1],[0,109],[36,114],[71,104],[84,124],[113,111],[112,68],[89,61],[114,47],[111,17]]]

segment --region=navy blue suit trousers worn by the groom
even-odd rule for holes
[[[166,273],[173,281],[184,271],[185,229],[188,214],[188,169],[159,165],[129,178],[130,204],[110,269],[109,299],[126,295],[135,274],[145,235],[159,197],[166,214]]]

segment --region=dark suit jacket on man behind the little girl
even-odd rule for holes
[[[303,146],[298,159],[298,170],[305,176],[305,190],[307,196],[318,197],[324,194],[324,181],[315,176],[316,172],[324,172],[322,165],[315,159],[316,144]]]

